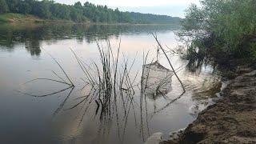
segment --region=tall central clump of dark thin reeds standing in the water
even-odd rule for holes
[[[92,67],[82,62],[82,59],[78,58],[74,50],[71,50],[79,67],[85,74],[86,81],[90,84],[92,90],[97,91],[97,94],[94,94],[92,99],[97,106],[96,114],[100,112],[100,118],[112,117],[111,114],[113,114],[113,110],[118,109],[116,104],[118,95],[120,95],[122,99],[122,107],[125,111],[125,115],[126,109],[129,106],[128,103],[133,99],[134,79],[133,81],[130,79],[130,70],[134,65],[135,58],[130,67],[128,67],[128,59],[124,59],[123,62],[120,63],[120,44],[121,41],[119,42],[116,56],[114,56],[114,50],[110,46],[110,42],[107,42],[106,47],[97,42],[100,62],[92,61]],[[84,99],[82,99],[82,101],[84,101]],[[75,106],[78,106],[80,103],[82,102],[78,102]]]

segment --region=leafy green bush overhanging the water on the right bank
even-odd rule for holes
[[[186,10],[178,36],[189,42],[188,55],[253,57],[256,47],[255,0],[202,0]]]

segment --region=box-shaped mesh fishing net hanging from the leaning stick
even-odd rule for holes
[[[171,90],[174,71],[162,66],[158,61],[142,66],[142,90],[146,95],[167,94]]]

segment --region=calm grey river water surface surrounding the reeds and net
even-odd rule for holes
[[[104,47],[109,40],[115,55],[121,39],[120,63],[128,60],[131,66],[135,58],[130,77],[139,82],[143,52],[150,50],[146,63],[156,58],[157,45],[150,33],[156,32],[164,46],[176,49],[177,30],[178,26],[0,26],[0,143],[143,143],[155,132],[168,138],[171,131],[186,127],[218,92],[220,80],[212,66],[186,66],[186,60],[171,56],[174,68],[182,67],[178,75],[186,93],[181,98],[182,88],[173,76],[168,94],[146,96],[141,105],[138,86],[131,108],[125,110],[118,97],[117,112],[110,111],[111,118],[101,119],[95,114],[94,101],[81,102],[89,89],[84,88],[85,75],[70,51],[91,66],[100,62],[96,42]],[[58,82],[28,82],[58,79],[52,70],[65,77],[49,54],[66,70],[74,89],[63,90],[66,85]],[[170,69],[164,55],[160,54],[159,62]],[[58,90],[62,91],[41,98],[29,95]]]

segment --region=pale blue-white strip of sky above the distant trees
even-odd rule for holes
[[[184,10],[191,3],[198,4],[199,0],[55,0],[55,2],[74,4],[80,1],[92,2],[96,5],[106,5],[110,8],[117,8],[122,11],[134,11],[150,14],[164,14],[174,17],[184,17]]]

